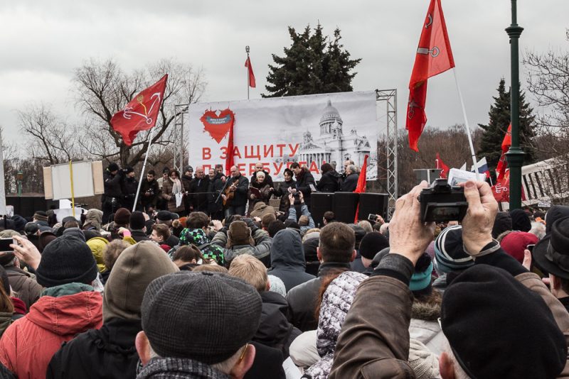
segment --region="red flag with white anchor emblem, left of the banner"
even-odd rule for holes
[[[112,116],[112,128],[120,133],[127,146],[132,145],[139,131],[147,131],[156,125],[167,80],[168,74],[137,94],[124,109]]]

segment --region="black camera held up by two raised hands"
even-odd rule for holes
[[[419,194],[421,221],[462,221],[468,203],[463,187],[452,187],[446,179],[435,179],[429,188]]]

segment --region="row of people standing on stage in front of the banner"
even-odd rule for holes
[[[190,212],[203,212],[212,219],[222,220],[230,214],[245,215],[255,209],[257,203],[269,204],[272,197],[280,199],[280,212],[289,209],[289,194],[299,192],[310,208],[310,194],[319,192],[353,192],[358,184],[359,169],[353,160],[346,160],[343,173],[335,168],[336,163],[321,165],[322,177],[318,184],[307,167],[292,163],[284,171],[285,181],[278,187],[262,163],[255,164],[255,172],[248,179],[238,167],[230,167],[230,175],[224,174],[223,165],[216,165],[207,173],[203,167],[188,165],[184,175],[164,167],[162,177],[150,170],[140,183],[138,199],[136,197],[139,182],[134,177],[132,167],[119,168],[111,163],[104,172],[105,194],[102,196],[101,209],[103,222],[117,209],[137,209],[152,214],[154,211],[169,210],[179,216]],[[136,207],[134,202],[136,201]]]

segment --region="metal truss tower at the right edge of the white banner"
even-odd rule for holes
[[[395,212],[398,197],[397,180],[397,89],[376,89],[376,101],[385,101],[387,115],[387,192],[389,195],[388,217]],[[378,167],[379,168],[379,167]],[[378,170],[379,175],[379,170]]]

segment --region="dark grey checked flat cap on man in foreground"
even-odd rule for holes
[[[142,329],[164,358],[220,363],[259,327],[255,287],[225,273],[181,271],[152,281],[142,300]]]

